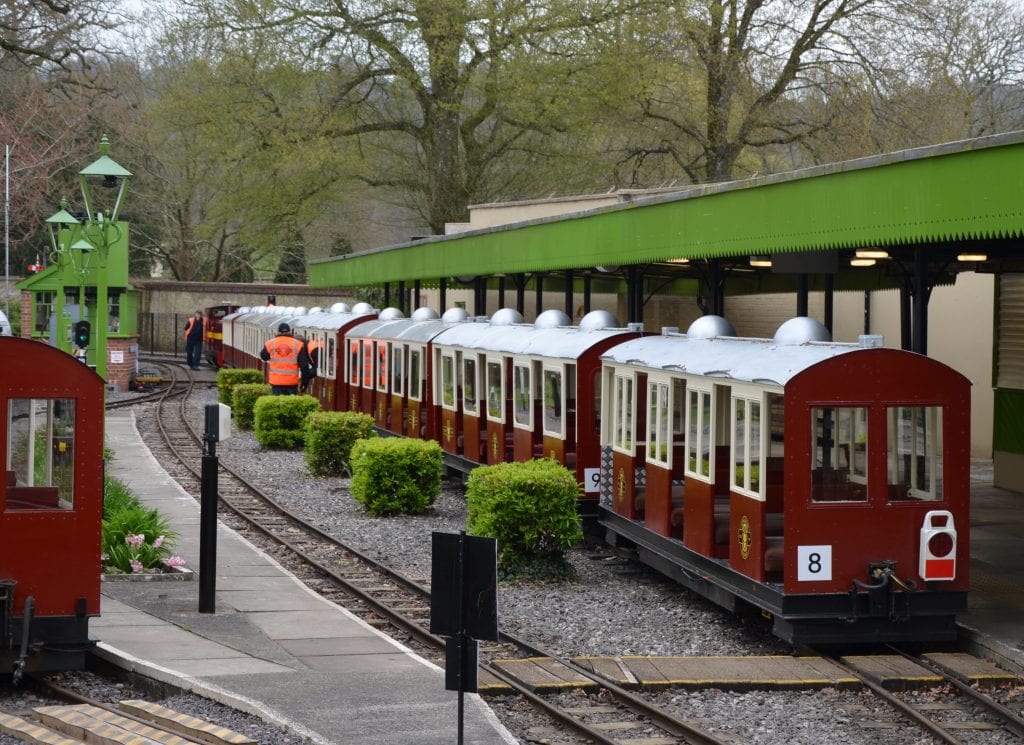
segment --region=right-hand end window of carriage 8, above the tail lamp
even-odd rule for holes
[[[889,498],[942,498],[942,408],[892,406],[886,412]]]

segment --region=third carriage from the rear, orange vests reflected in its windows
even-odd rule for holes
[[[418,308],[411,318],[385,308],[345,335],[347,408],[374,417],[377,427],[396,435],[439,439],[430,380],[430,345],[438,334],[468,318],[451,308],[438,318]]]

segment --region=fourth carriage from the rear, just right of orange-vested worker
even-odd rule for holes
[[[316,376],[309,382],[308,393],[321,402],[324,410],[344,408],[348,400],[348,381],[338,371],[339,350],[350,328],[377,317],[369,303],[335,303],[329,309],[310,308],[309,313],[295,319],[296,337],[306,340],[310,360]]]

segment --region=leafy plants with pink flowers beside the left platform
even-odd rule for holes
[[[174,556],[177,533],[156,510],[146,510],[122,482],[103,478],[101,528],[103,570],[138,574],[183,566]]]

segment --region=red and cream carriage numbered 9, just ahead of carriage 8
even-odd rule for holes
[[[526,324],[505,308],[439,334],[433,380],[444,451],[469,464],[550,457],[596,498],[600,354],[640,334],[616,326],[605,311],[571,326],[558,310]]]

